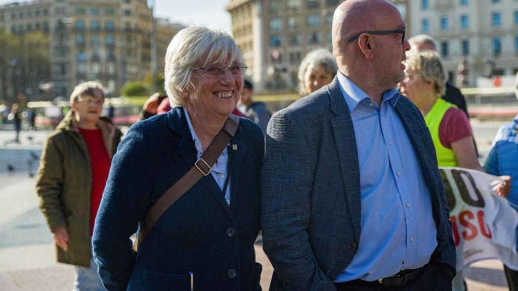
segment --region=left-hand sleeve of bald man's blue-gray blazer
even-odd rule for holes
[[[335,290],[311,250],[308,226],[315,158],[290,115],[268,125],[261,188],[263,248],[284,290]]]

